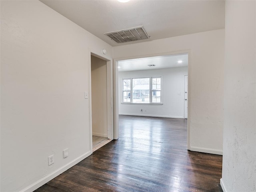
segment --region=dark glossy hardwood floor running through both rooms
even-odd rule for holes
[[[222,156],[186,150],[186,120],[120,115],[119,136],[36,192],[222,192]]]

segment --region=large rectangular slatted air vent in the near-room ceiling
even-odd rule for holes
[[[116,43],[125,43],[130,41],[137,41],[143,39],[149,39],[150,36],[147,34],[143,26],[138,26],[134,28],[104,33],[109,36]]]

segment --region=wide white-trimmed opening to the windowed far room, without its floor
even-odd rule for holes
[[[190,149],[189,58],[190,50],[185,50],[114,60],[116,65],[114,68],[115,139],[118,138],[119,114],[180,119],[188,118],[187,144],[188,149]],[[187,77],[187,82],[185,82],[185,76]],[[148,84],[145,78],[148,78]],[[139,79],[141,81],[138,81]],[[158,80],[158,82],[155,83],[153,80]],[[139,82],[141,85],[138,84]],[[130,87],[126,86],[126,84],[129,84]],[[185,84],[187,84],[187,88],[185,88]],[[137,92],[140,93],[139,96],[137,96]]]

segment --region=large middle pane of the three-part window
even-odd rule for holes
[[[133,103],[149,103],[149,81],[150,78],[132,79]]]

